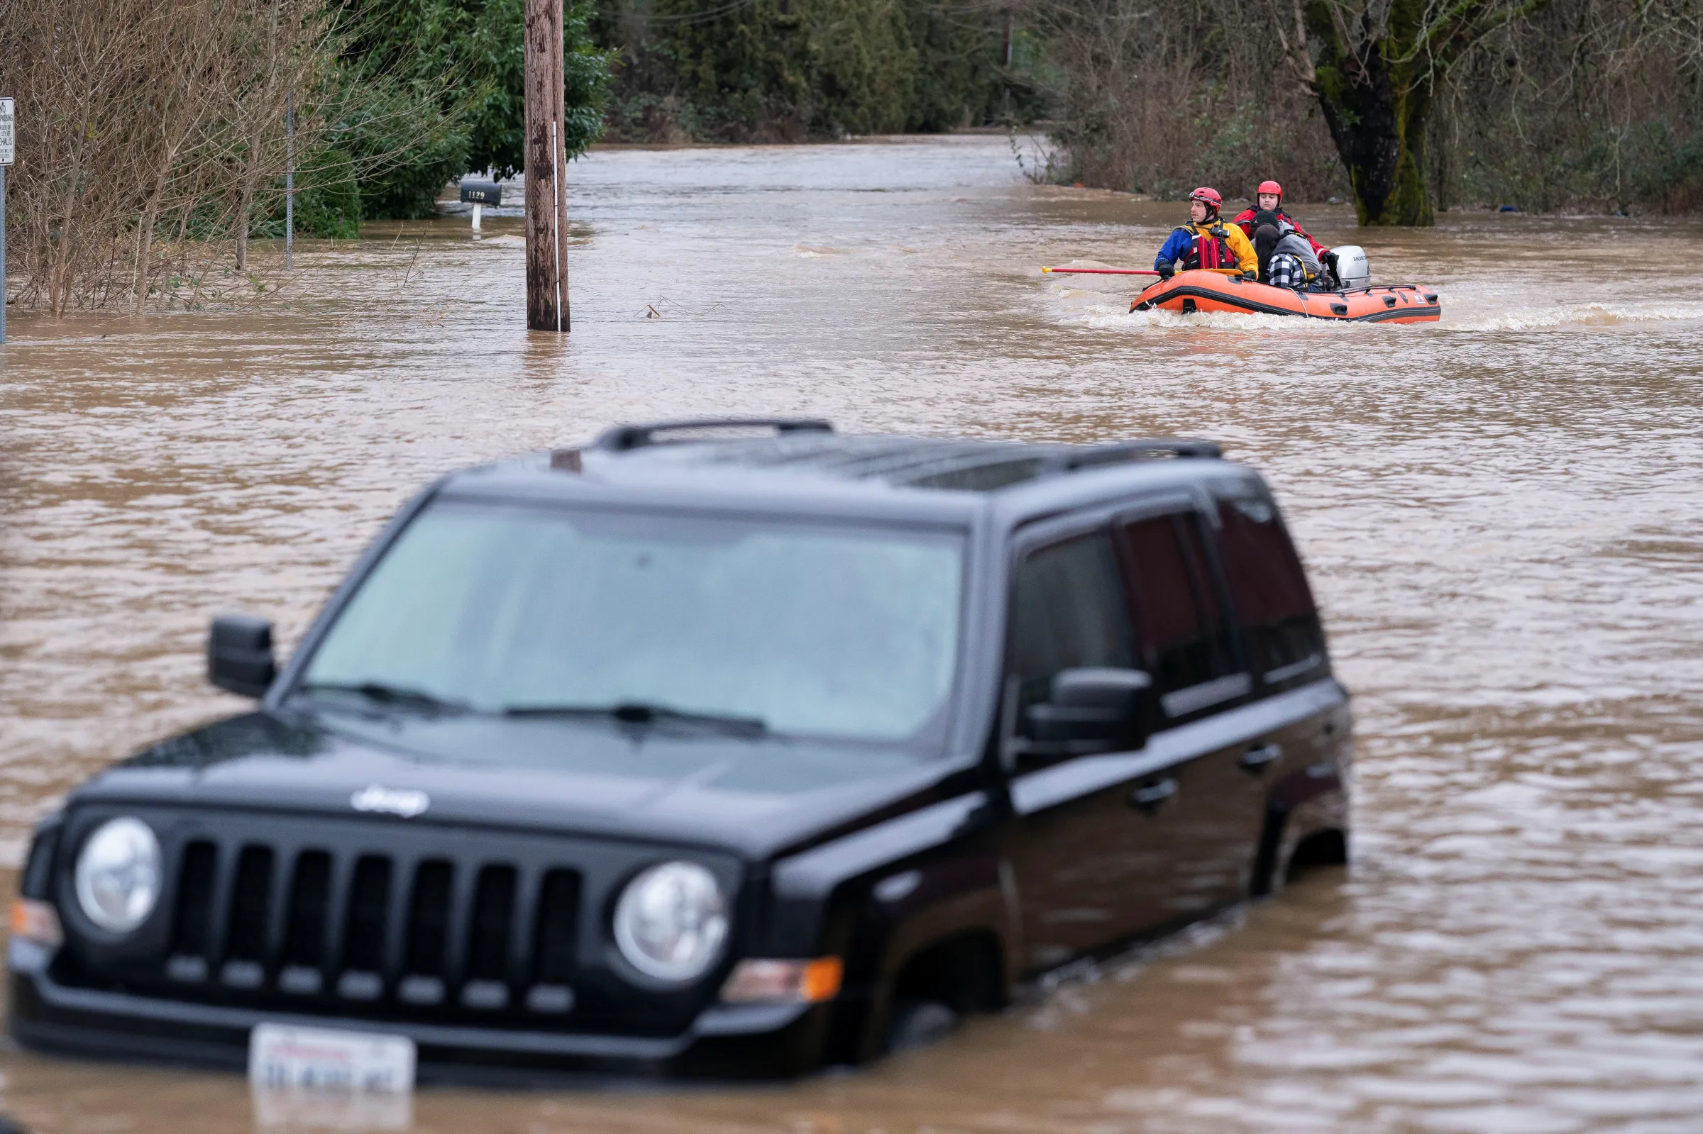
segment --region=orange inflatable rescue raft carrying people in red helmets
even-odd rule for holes
[[[1301,315],[1361,324],[1434,324],[1442,318],[1437,293],[1417,284],[1294,291],[1211,271],[1177,272],[1136,296],[1131,312],[1235,312],[1238,315]]]

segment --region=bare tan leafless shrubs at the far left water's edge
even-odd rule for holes
[[[324,0],[10,5],[0,87],[19,123],[14,303],[140,312],[182,300],[184,281],[201,298],[233,245],[230,286],[245,288],[255,196],[283,174],[284,92],[312,107],[337,48]],[[303,150],[317,129],[305,112]]]

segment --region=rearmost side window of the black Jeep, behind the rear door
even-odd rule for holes
[[[1304,683],[1325,673],[1325,635],[1313,591],[1270,501],[1218,506],[1219,557],[1253,671],[1262,684]]]

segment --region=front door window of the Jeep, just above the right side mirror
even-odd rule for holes
[[[1107,533],[1076,536],[1024,558],[1012,599],[1010,673],[1020,683],[1018,708],[1046,700],[1061,669],[1134,664],[1129,611]],[[1020,712],[1018,720],[1025,719]]]

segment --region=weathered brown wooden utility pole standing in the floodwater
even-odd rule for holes
[[[526,0],[526,329],[567,330],[562,0]]]

